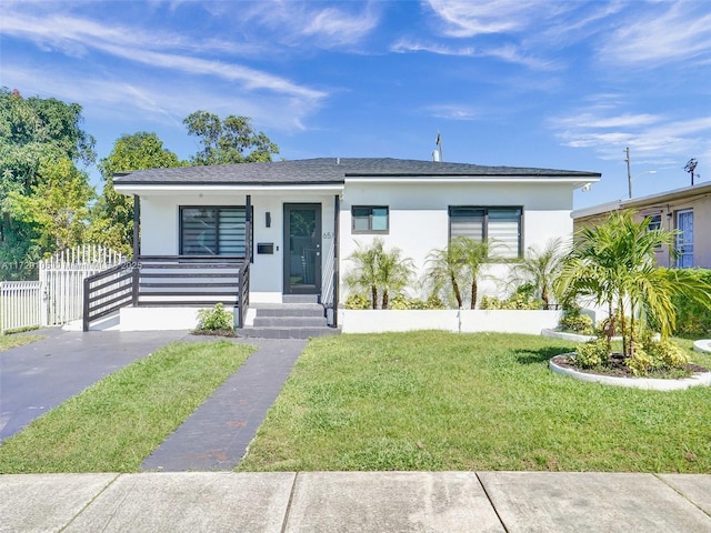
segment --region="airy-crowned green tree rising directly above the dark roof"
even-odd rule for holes
[[[200,140],[201,150],[193,164],[232,164],[271,161],[279,147],[261,131],[254,131],[249,117],[230,114],[220,120],[208,111],[196,111],[183,120],[188,133]]]

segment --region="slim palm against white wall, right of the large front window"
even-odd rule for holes
[[[543,301],[544,309],[551,309],[551,299],[560,301],[557,281],[563,268],[567,248],[560,238],[551,239],[542,250],[530,247],[527,257],[513,266],[514,280],[535,288],[534,295]]]

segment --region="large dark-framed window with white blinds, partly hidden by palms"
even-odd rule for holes
[[[505,259],[521,257],[521,219],[523,208],[450,207],[450,239],[459,235],[475,241],[489,239],[495,245],[492,255]]]

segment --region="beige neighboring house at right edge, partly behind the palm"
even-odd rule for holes
[[[595,224],[613,211],[632,209],[638,218],[650,217],[651,228],[677,230],[678,258],[667,249],[657,252],[662,266],[711,269],[711,182],[684,187],[643,198],[617,200],[571,213],[573,230]]]

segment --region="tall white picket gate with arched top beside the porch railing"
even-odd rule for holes
[[[80,245],[40,262],[46,305],[42,325],[61,325],[80,320],[83,311],[83,280],[119,264],[119,252],[99,247]]]

